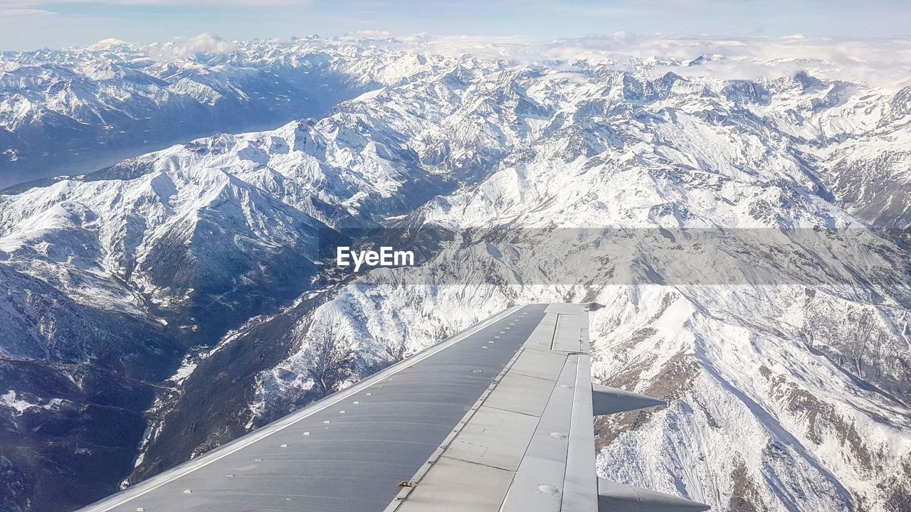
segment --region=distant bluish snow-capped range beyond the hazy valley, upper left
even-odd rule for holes
[[[100,169],[220,131],[320,117],[343,99],[434,72],[369,42],[229,43],[0,52],[0,188]]]

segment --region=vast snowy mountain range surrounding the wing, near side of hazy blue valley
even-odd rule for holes
[[[717,77],[742,58],[706,45],[620,59],[586,39],[536,63],[420,43],[434,51],[180,57],[219,77],[318,62],[297,90],[325,115],[0,195],[3,507],[76,507],[509,305],[558,301],[607,306],[600,382],[669,402],[599,420],[602,476],[716,510],[911,506],[909,89],[796,57]],[[163,53],[15,59],[146,73]],[[350,84],[331,97],[326,80]],[[421,265],[320,261],[320,237],[363,227]]]

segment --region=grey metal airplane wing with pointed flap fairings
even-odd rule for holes
[[[662,402],[591,384],[594,307],[508,309],[83,510],[707,510],[597,477],[594,415]]]

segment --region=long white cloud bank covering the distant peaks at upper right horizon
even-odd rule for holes
[[[808,71],[817,77],[897,88],[911,84],[911,38],[839,40],[804,36],[711,37],[613,35],[544,40],[532,37],[414,36],[406,48],[444,55],[516,59],[522,63],[581,59],[615,67],[630,59],[656,61],[656,74],[673,70],[683,77],[755,79],[793,77]],[[700,66],[664,66],[699,56],[719,56]]]

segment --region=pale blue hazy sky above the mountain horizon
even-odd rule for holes
[[[129,42],[392,35],[911,36],[906,0],[0,0],[0,49]]]

